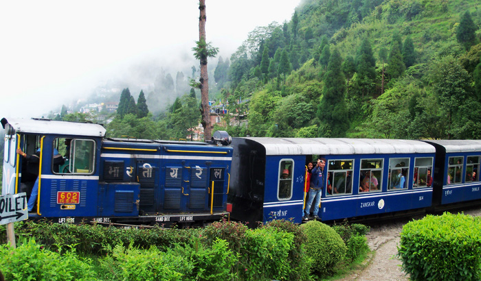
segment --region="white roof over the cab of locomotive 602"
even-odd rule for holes
[[[105,128],[102,125],[92,123],[53,121],[48,119],[1,119],[1,124],[4,128],[7,123],[16,132],[20,133],[105,136]]]

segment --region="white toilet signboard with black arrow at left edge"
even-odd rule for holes
[[[0,224],[28,219],[27,193],[0,196]]]

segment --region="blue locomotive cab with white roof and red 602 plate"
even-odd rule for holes
[[[29,217],[98,215],[102,125],[48,119],[1,123],[4,194],[25,192]]]

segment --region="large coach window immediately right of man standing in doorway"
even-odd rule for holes
[[[354,160],[329,160],[328,171],[332,173],[331,186],[332,190],[328,192],[331,195],[343,195],[353,193],[353,162]]]

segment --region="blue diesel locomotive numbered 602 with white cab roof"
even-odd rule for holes
[[[91,123],[1,123],[3,193],[25,192],[30,199],[38,178],[30,219],[195,225],[228,215],[231,147],[106,138],[104,127]],[[39,164],[16,154],[17,148],[37,154]]]

